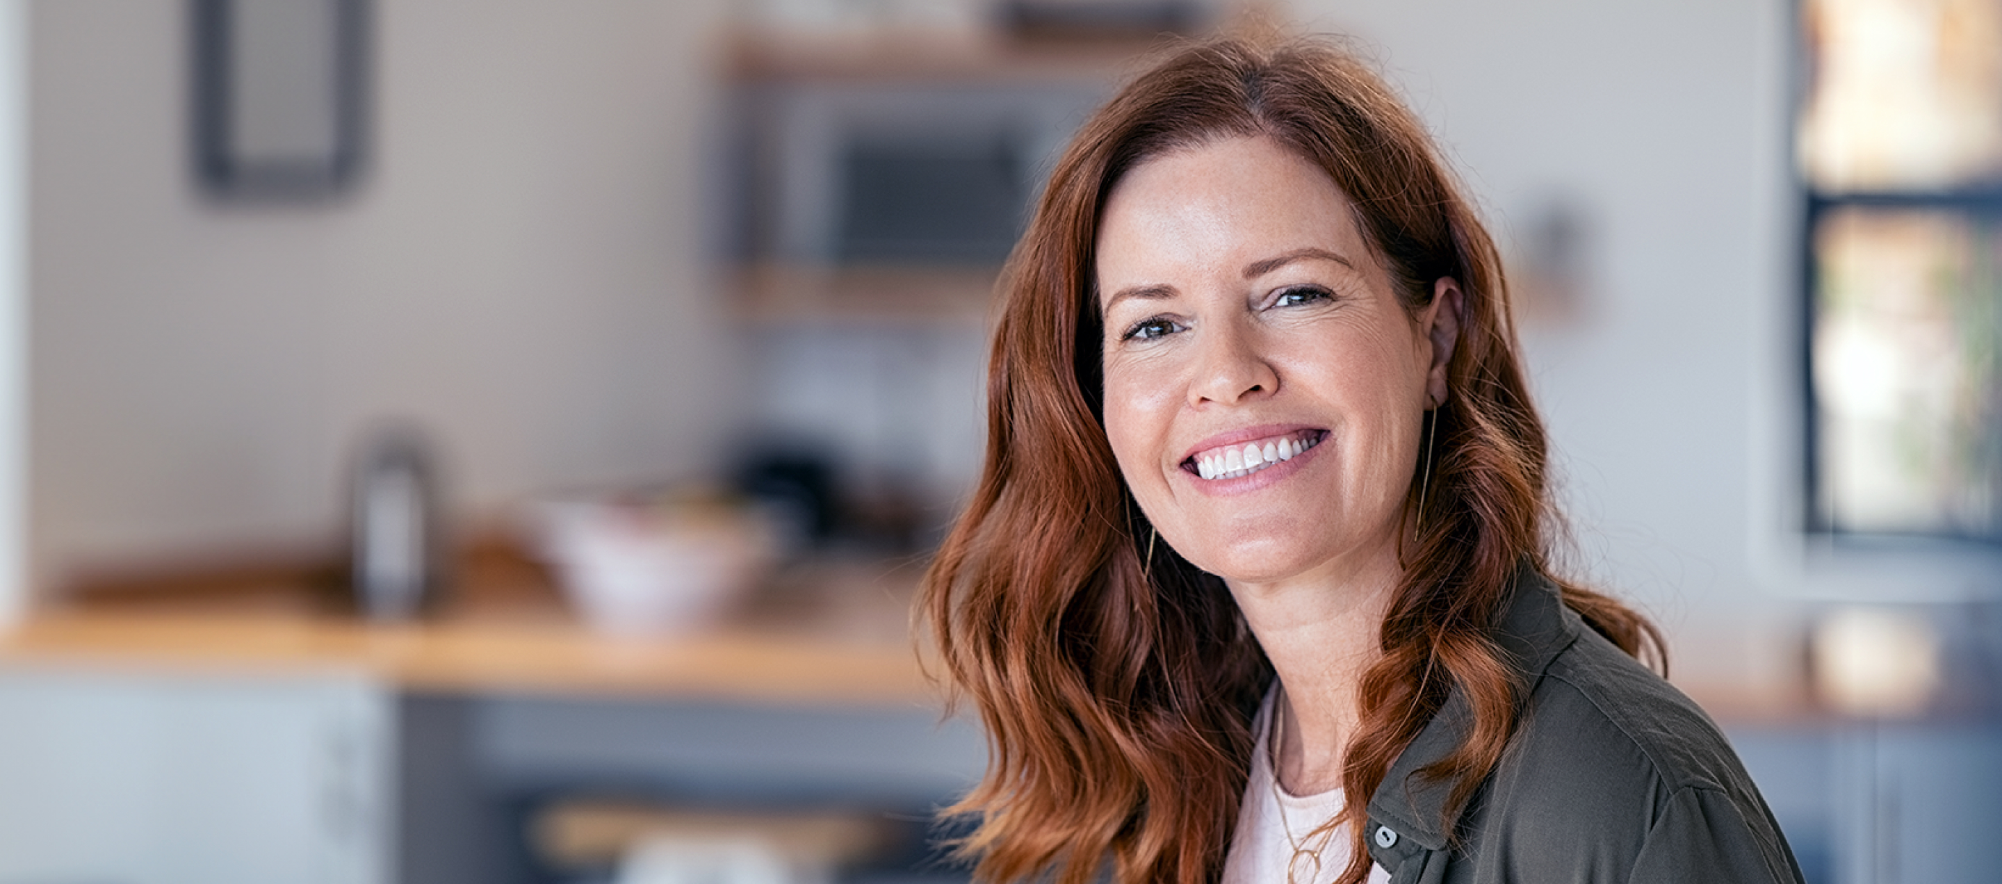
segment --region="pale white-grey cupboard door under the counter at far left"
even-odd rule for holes
[[[388,884],[390,738],[358,678],[0,670],[0,884]]]

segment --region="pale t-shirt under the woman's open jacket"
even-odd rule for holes
[[[1341,790],[1295,796],[1273,778],[1267,746],[1277,696],[1277,690],[1267,692],[1257,718],[1251,720],[1257,746],[1251,750],[1251,780],[1245,782],[1243,802],[1237,804],[1237,834],[1231,836],[1231,850],[1223,856],[1223,884],[1327,884],[1349,866],[1349,828],[1319,830],[1341,812]],[[1301,848],[1319,848],[1317,870],[1309,856],[1293,862],[1295,842]],[[1293,880],[1287,880],[1289,864],[1297,874]],[[1389,872],[1371,864],[1369,884],[1389,884]]]

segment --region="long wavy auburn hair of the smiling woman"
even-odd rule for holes
[[[949,808],[977,818],[957,848],[979,880],[1203,882],[1223,868],[1271,664],[1223,582],[1155,544],[1121,480],[1101,422],[1093,248],[1121,174],[1233,136],[1325,170],[1407,310],[1445,276],[1465,298],[1429,492],[1417,512],[1413,480],[1417,530],[1343,762],[1341,882],[1365,878],[1367,800],[1449,690],[1473,724],[1423,774],[1453,784],[1453,808],[1516,728],[1524,684],[1491,628],[1518,568],[1548,574],[1556,512],[1495,246],[1425,128],[1361,62],[1323,42],[1191,44],[1105,104],[1051,172],[1003,272],[981,480],[919,598],[955,700],[987,726],[985,778]],[[1640,614],[1560,586],[1598,632],[1662,666]]]

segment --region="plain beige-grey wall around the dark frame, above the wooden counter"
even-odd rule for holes
[[[721,4],[376,2],[368,166],[298,206],[198,192],[186,10],[28,20],[44,582],[330,538],[348,446],[386,416],[432,430],[472,508],[715,456],[735,372],[697,206]]]

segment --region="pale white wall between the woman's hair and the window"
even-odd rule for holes
[[[1784,0],[1295,0],[1373,46],[1499,236],[1592,222],[1576,318],[1526,324],[1598,584],[1728,680],[1794,664],[1798,344]]]

